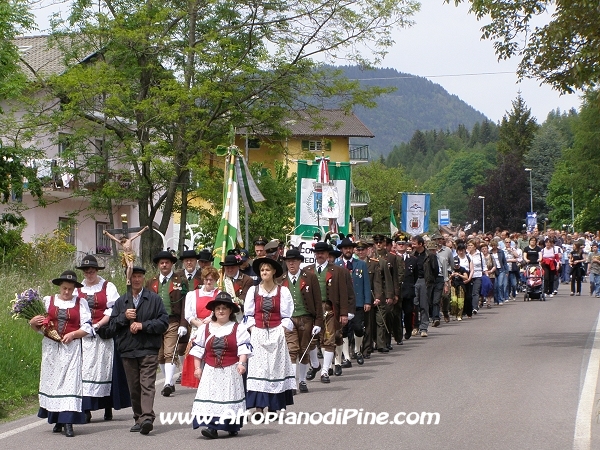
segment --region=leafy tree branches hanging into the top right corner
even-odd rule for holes
[[[452,0],[445,0],[450,3]],[[477,19],[491,18],[482,38],[498,59],[520,56],[518,75],[537,78],[562,93],[593,88],[600,78],[600,9],[579,0],[454,0],[471,4]],[[552,18],[538,26],[541,16]]]

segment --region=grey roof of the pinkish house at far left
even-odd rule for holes
[[[49,36],[21,36],[13,43],[27,65],[41,75],[57,75],[65,71],[63,54],[60,49],[48,46]],[[22,65],[27,78],[34,79],[31,69]]]

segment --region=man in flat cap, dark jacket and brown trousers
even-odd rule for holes
[[[144,289],[146,270],[134,267],[131,294],[119,297],[110,316],[109,331],[115,337],[125,368],[135,425],[132,432],[148,434],[154,422],[154,394],[158,351],[169,315],[162,299]]]

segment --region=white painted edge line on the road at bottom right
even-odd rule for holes
[[[600,314],[596,320],[596,332],[592,341],[592,350],[588,361],[583,388],[579,396],[577,416],[575,418],[575,436],[573,450],[589,450],[592,439],[592,414],[596,385],[598,384],[598,370],[600,368]]]

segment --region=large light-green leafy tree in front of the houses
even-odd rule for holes
[[[369,65],[417,10],[412,0],[76,0],[69,17],[53,24],[71,69],[52,80],[60,108],[49,121],[55,129],[87,121],[114,142],[98,159],[106,182],[91,194],[112,201],[116,172],[131,167],[126,192],[117,194],[137,202],[142,226],[162,213],[165,232],[179,196],[184,211],[191,167],[227,142],[231,124],[285,135],[291,109],[316,113],[331,98],[346,109],[373,106],[381,89],[361,89],[315,60]],[[359,50],[365,43],[371,61]],[[76,166],[89,173],[81,161]],[[156,239],[142,236],[145,258]]]

